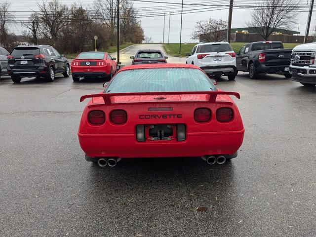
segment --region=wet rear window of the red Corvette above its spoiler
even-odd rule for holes
[[[209,91],[212,81],[194,68],[148,68],[119,72],[105,92]]]

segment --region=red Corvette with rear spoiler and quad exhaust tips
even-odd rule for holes
[[[244,127],[230,95],[191,64],[140,64],[118,71],[91,98],[79,125],[87,161],[115,166],[121,158],[237,157]]]

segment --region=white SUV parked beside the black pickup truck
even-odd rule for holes
[[[236,54],[228,42],[199,43],[186,56],[187,64],[197,65],[210,76],[236,77]]]

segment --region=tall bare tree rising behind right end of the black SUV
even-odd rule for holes
[[[37,13],[40,19],[40,32],[44,37],[56,40],[61,30],[69,23],[69,9],[59,0],[47,2],[43,0],[38,4],[40,11]]]

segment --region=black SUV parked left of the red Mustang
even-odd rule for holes
[[[16,83],[22,78],[37,77],[53,81],[57,73],[63,73],[65,78],[70,75],[70,66],[65,55],[49,45],[20,45],[7,57],[8,75]]]

